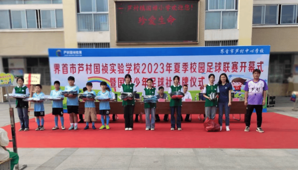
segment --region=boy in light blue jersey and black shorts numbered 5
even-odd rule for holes
[[[53,96],[53,97],[61,96],[60,92],[62,92],[62,90],[60,89],[60,82],[55,81],[54,87],[55,87],[55,90],[51,91],[50,96]],[[58,116],[60,117],[60,121],[61,121],[61,129],[65,130],[64,117],[63,117],[63,100],[52,101],[52,114],[55,115],[55,126],[54,128],[52,128],[52,130],[59,129]]]

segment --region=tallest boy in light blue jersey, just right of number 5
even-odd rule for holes
[[[75,90],[78,93],[80,92],[80,89],[77,85],[74,84],[75,79],[73,76],[68,77],[68,84],[65,86],[65,91],[72,91]],[[65,94],[65,97],[67,97],[67,113],[69,113],[69,121],[70,121],[70,127],[68,130],[77,130],[78,129],[78,113],[79,113],[79,99],[78,95],[72,95],[72,94]]]

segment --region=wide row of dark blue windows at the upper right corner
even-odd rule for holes
[[[297,4],[255,5],[253,24],[298,24]]]

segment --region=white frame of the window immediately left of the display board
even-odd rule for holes
[[[91,5],[95,6],[95,11],[91,11],[91,12],[81,12],[81,0],[77,0],[79,2],[79,13],[76,13],[77,15],[80,14],[92,14],[92,32],[101,32],[101,31],[94,31],[94,14],[109,14],[109,5],[108,5],[108,0],[107,0],[107,8],[108,11],[107,12],[97,12],[97,0],[91,0]],[[94,4],[93,4],[94,3]],[[93,8],[92,8],[93,9]],[[77,17],[78,18],[78,17]],[[77,20],[78,21],[78,20]],[[90,32],[90,31],[79,31],[79,22],[77,22],[77,31],[78,32]],[[108,15],[108,30],[105,31],[110,31],[110,24],[109,24],[109,15]]]

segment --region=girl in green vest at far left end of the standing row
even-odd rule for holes
[[[18,77],[16,79],[18,86],[12,90],[12,94],[30,94],[27,86],[24,85],[24,78]],[[18,115],[20,119],[21,128],[19,131],[29,130],[29,116],[28,116],[28,102],[23,101],[21,98],[16,98],[16,109],[18,110]]]

